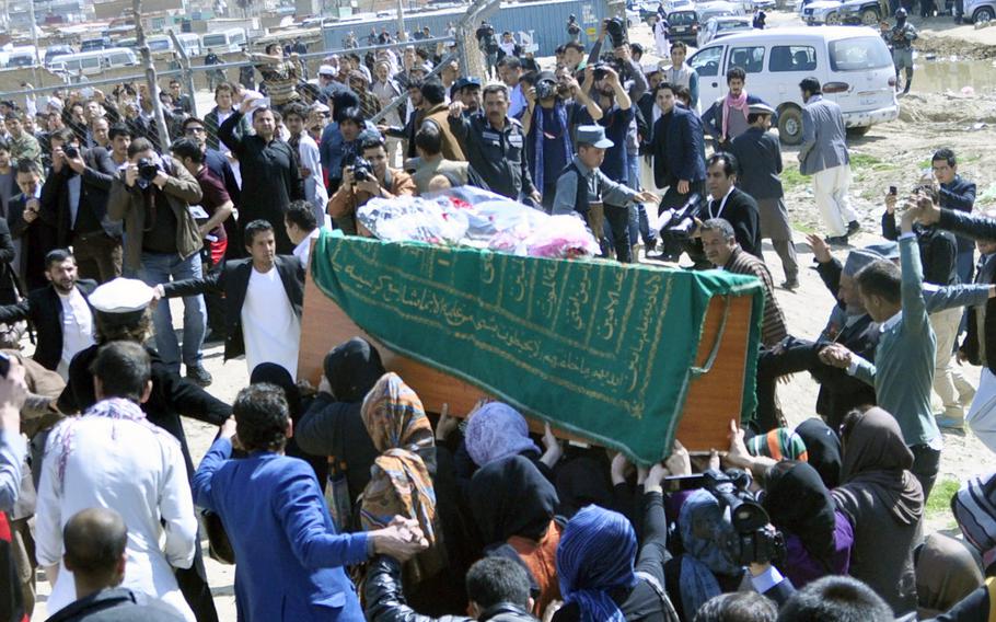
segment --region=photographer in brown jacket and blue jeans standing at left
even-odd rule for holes
[[[143,138],[128,147],[128,159],[111,184],[107,201],[111,218],[125,221],[125,273],[137,274],[150,287],[200,278],[204,242],[189,209],[204,196],[197,180],[174,160],[158,156]],[[182,358],[190,380],[209,383],[200,349],[207,320],[204,298],[199,293],[184,298],[183,353],[170,306],[157,306],[152,319],[155,346],[166,367],[178,372]]]

